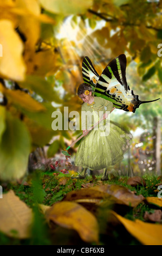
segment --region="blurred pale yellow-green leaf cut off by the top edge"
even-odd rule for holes
[[[82,14],[85,13],[88,8],[90,8],[93,4],[92,0],[82,1],[79,0],[64,0],[57,1],[57,0],[39,0],[42,6],[52,12],[52,13],[59,13],[59,14]]]

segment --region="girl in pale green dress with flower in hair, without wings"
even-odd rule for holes
[[[113,108],[113,103],[111,101],[98,96],[93,96],[92,87],[89,86],[89,84],[80,84],[77,90],[77,95],[84,102],[81,111],[90,111],[94,113],[94,119],[92,120],[91,126],[99,120],[99,115],[96,113],[102,111],[106,118],[105,112],[111,111]],[[105,121],[105,124],[99,125],[99,129],[88,131],[87,120],[82,120],[82,122],[84,122],[82,123],[82,127],[86,127],[83,132],[87,132],[79,145],[74,161],[75,166],[83,167],[82,173],[79,174],[78,177],[80,179],[86,177],[86,172],[89,168],[90,170],[103,169],[101,180],[107,180],[107,168],[120,162],[124,158],[124,153],[129,147],[129,142],[132,139],[131,133],[127,132],[114,121],[110,121],[109,123],[109,135],[103,136],[103,131],[105,131],[104,125],[108,125],[108,120],[105,119]]]

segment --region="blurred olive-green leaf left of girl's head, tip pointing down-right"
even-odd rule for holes
[[[44,100],[61,103],[59,95],[54,91],[51,83],[38,76],[27,76],[25,82],[20,83],[23,88],[31,89]]]

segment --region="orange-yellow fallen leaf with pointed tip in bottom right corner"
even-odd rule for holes
[[[144,245],[162,245],[162,225],[142,222],[140,220],[130,221],[111,211],[118,220],[125,226],[131,235]]]

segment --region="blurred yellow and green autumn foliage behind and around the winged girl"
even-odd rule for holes
[[[22,178],[31,153],[47,160],[81,135],[52,130],[51,114],[81,111],[83,57],[101,74],[125,53],[129,87],[140,100],[161,97],[161,14],[161,0],[0,0],[0,179]],[[160,99],[111,115],[134,135],[128,163],[137,172],[160,172],[161,114]]]

